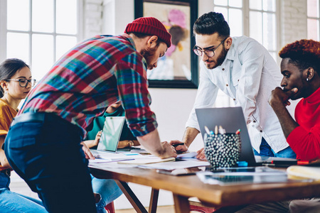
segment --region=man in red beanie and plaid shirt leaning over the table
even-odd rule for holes
[[[94,157],[81,141],[115,102],[122,102],[129,129],[150,153],[176,157],[174,147],[160,142],[146,80],[147,68],[156,67],[170,45],[159,20],[138,18],[124,35],[97,35],[76,45],[28,94],[5,150],[48,212],[97,212],[87,168]]]

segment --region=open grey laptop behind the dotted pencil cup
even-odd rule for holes
[[[207,126],[210,130],[214,130],[215,126],[223,126],[223,129],[228,133],[240,129],[241,154],[239,161],[247,161],[248,165],[271,163],[272,160],[295,160],[291,158],[255,156],[241,107],[196,109],[196,116],[202,137],[206,132],[204,126]]]

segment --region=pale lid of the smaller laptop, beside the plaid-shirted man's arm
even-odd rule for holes
[[[105,118],[97,150],[116,152],[124,126],[124,116],[110,116]]]

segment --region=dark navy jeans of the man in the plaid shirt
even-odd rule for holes
[[[81,135],[78,126],[54,114],[9,129],[5,141],[9,163],[38,193],[48,212],[97,212]]]

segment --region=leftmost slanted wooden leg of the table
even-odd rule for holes
[[[142,203],[139,201],[138,197],[134,195],[134,192],[130,189],[129,185],[127,182],[119,181],[119,180],[114,180],[117,182],[117,185],[119,188],[122,190],[124,195],[127,197],[129,202],[132,204],[132,207],[138,212],[138,213],[147,213],[146,209],[142,205]]]

